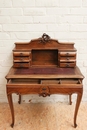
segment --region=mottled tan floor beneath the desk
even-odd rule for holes
[[[11,128],[9,105],[0,103],[0,130],[87,130],[87,102],[80,105],[77,128],[73,128],[74,108],[74,103],[15,103]]]

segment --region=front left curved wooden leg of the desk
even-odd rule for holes
[[[12,101],[12,94],[7,95],[8,97],[8,102],[11,110],[11,116],[12,116],[12,124],[11,127],[14,126],[14,107],[13,107],[13,101]]]

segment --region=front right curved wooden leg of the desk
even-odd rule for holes
[[[78,93],[77,94],[77,101],[76,101],[76,108],[75,108],[75,113],[74,113],[74,127],[77,127],[76,124],[76,118],[77,118],[77,113],[78,113],[78,109],[81,103],[81,99],[82,99],[82,93]]]

